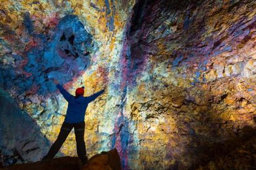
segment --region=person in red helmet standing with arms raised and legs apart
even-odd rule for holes
[[[85,111],[87,109],[88,103],[95,100],[99,95],[104,92],[104,90],[97,92],[89,97],[83,97],[84,87],[80,87],[76,89],[74,96],[69,94],[69,92],[67,92],[59,84],[58,80],[54,79],[54,83],[58,87],[63,97],[69,103],[67,106],[66,118],[62,123],[61,131],[59,132],[58,138],[56,139],[54,144],[51,145],[48,154],[42,158],[42,161],[53,158],[56,155],[56,153],[59,151],[62,144],[66,140],[67,136],[69,135],[70,131],[74,127],[75,141],[77,142],[77,155],[79,156],[82,163],[85,164],[88,161],[88,158],[86,156],[85,142],[83,139],[85,132]]]

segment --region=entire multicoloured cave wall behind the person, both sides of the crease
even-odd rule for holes
[[[115,147],[124,169],[197,168],[255,136],[255,1],[2,4],[1,87],[49,141],[67,107],[49,78],[106,86],[87,152]],[[61,152],[76,155],[74,132]]]

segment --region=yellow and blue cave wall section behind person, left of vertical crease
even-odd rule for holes
[[[56,90],[52,78],[59,79],[71,94],[80,86],[86,87],[85,95],[106,87],[105,94],[88,106],[85,140],[88,156],[113,147],[110,138],[114,136],[116,105],[120,103],[121,78],[117,81],[116,77],[119,52],[123,28],[134,1],[11,0],[1,4],[1,89],[32,117],[46,137],[35,142],[42,150],[36,158],[21,152],[20,161],[40,160],[49,149],[49,144],[43,145],[43,141],[53,144],[59,134],[67,102]],[[108,86],[112,82],[115,84]],[[5,110],[3,105],[1,109]],[[6,140],[0,140],[0,149],[1,157],[9,159],[1,161],[8,165],[19,158],[11,152],[12,145],[6,146],[6,131],[15,131],[17,126],[7,123],[5,128],[1,139]],[[13,135],[20,139],[19,133]],[[32,139],[36,136],[33,133]],[[58,156],[76,155],[74,131],[60,152]]]

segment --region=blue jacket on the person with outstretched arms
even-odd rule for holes
[[[99,95],[103,94],[104,90],[96,92],[89,97],[83,97],[80,95],[75,98],[74,95],[69,94],[60,84],[56,85],[63,95],[63,97],[69,102],[67,105],[67,113],[64,122],[66,123],[80,123],[85,119],[85,111],[88,103],[95,100]]]

